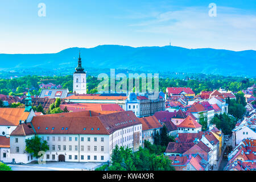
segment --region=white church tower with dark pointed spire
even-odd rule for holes
[[[73,93],[86,94],[86,73],[82,68],[82,61],[79,51],[79,61],[76,71],[73,73]]]

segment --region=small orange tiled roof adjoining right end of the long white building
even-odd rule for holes
[[[159,123],[158,119],[154,115],[144,118],[139,118],[142,123],[142,130],[159,129],[162,125]]]

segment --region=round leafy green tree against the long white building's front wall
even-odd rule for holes
[[[38,136],[35,136],[31,139],[26,139],[26,148],[25,150],[29,153],[32,154],[34,157],[38,157],[38,152],[39,151],[48,151],[49,146],[47,145],[47,141],[41,139]]]

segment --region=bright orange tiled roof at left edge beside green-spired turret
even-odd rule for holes
[[[25,121],[30,112],[24,112],[24,108],[0,108],[0,125],[17,126],[19,121]]]

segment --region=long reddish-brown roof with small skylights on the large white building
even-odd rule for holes
[[[91,115],[91,116],[90,116]],[[111,134],[141,124],[133,111],[99,114],[93,111],[47,114],[32,119],[37,134]]]

